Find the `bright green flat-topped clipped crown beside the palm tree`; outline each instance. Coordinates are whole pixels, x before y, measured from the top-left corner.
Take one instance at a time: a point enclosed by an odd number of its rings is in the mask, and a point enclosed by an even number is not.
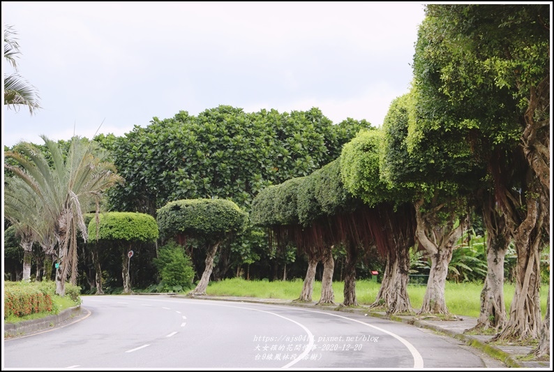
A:
[[[90,218],[90,216],[89,216]],[[155,241],[158,225],[154,217],[133,212],[107,212],[91,218],[89,237],[99,240]],[[97,228],[98,227],[98,228]]]

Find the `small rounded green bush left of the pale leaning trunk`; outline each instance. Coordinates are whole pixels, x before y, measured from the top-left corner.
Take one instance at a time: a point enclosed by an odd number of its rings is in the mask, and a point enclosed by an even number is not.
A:
[[[184,248],[175,241],[171,240],[159,249],[158,258],[154,258],[154,265],[158,268],[161,279],[161,290],[158,292],[179,292],[193,287],[193,263]],[[181,289],[175,290],[175,287]]]

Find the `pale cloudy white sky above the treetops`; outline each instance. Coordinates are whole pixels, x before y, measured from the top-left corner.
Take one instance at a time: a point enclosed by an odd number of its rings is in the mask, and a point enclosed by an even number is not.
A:
[[[121,136],[179,111],[318,107],[380,126],[409,90],[417,2],[2,1],[40,110],[2,113],[2,144]],[[2,29],[2,31],[3,31]],[[3,60],[4,75],[14,72]]]

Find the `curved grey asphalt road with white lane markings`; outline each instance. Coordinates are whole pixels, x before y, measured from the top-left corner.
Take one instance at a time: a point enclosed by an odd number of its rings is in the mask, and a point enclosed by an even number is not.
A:
[[[403,323],[292,306],[166,296],[82,297],[90,315],[6,340],[25,369],[483,368],[463,343]]]

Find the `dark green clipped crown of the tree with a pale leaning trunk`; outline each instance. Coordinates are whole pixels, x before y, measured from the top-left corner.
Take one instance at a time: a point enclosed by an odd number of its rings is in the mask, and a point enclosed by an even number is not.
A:
[[[220,241],[248,226],[248,214],[225,199],[193,199],[169,202],[158,209],[158,226],[168,238],[186,236]]]

